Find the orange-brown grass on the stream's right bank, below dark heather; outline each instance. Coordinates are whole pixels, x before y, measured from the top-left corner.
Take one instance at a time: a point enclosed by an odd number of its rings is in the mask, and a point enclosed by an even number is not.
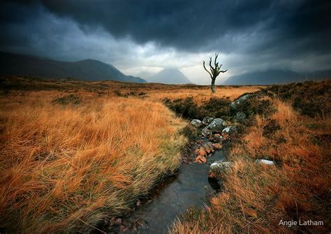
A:
[[[297,115],[288,103],[274,101],[281,130],[263,136],[269,120],[257,125],[244,143],[231,149],[232,170],[224,192],[207,211],[177,221],[172,233],[325,233],[330,231],[330,117]],[[307,127],[309,126],[309,127]],[[316,142],[316,138],[325,139]],[[283,139],[279,142],[279,139]],[[318,138],[319,139],[319,138]],[[259,166],[256,158],[275,159],[279,166]],[[279,221],[323,221],[323,226],[281,226]]]

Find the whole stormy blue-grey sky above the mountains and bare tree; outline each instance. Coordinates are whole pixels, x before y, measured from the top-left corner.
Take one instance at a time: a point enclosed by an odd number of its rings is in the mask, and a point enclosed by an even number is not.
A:
[[[1,1],[0,50],[61,61],[96,59],[126,75],[178,68],[209,84],[266,69],[331,68],[331,1]]]

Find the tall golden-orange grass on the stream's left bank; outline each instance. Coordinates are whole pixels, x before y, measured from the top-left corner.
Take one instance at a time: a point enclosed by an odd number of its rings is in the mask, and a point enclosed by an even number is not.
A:
[[[119,214],[179,166],[185,125],[161,103],[57,93],[1,98],[1,227],[17,233],[87,231]],[[86,225],[89,224],[89,225]]]

